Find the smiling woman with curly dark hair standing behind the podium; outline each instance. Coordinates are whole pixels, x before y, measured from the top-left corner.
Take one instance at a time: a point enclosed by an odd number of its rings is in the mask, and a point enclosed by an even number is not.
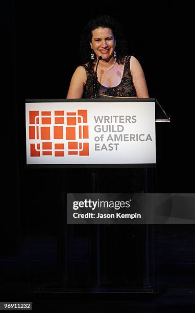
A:
[[[67,99],[93,98],[96,66],[97,98],[101,94],[149,98],[141,65],[127,55],[126,39],[112,17],[103,15],[89,21],[81,36],[80,54],[83,65],[72,76]]]

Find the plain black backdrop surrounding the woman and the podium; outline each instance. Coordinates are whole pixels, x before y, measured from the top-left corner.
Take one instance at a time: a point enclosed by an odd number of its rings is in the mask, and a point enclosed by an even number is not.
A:
[[[71,76],[80,65],[79,35],[90,17],[110,14],[121,22],[130,54],[144,70],[150,97],[158,99],[171,119],[170,123],[156,125],[157,167],[150,172],[154,192],[194,192],[194,109],[185,86],[182,9],[179,12],[170,1],[98,5],[1,2],[0,262],[5,297],[13,297],[16,290],[23,292],[33,284],[56,282],[61,192],[88,192],[91,188],[89,170],[27,169],[25,164],[25,99],[66,98]],[[118,173],[123,177],[123,170]],[[120,184],[109,182],[110,170],[102,170],[102,174],[108,176],[108,184],[104,182],[101,192],[124,192]],[[192,290],[189,295],[193,295],[194,226],[156,226],[155,231],[160,284],[185,290],[186,295]],[[176,306],[185,292],[175,301]],[[189,306],[193,306],[192,298]]]

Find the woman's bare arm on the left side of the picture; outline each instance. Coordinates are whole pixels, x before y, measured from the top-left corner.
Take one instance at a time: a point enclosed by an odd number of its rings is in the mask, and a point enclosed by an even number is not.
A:
[[[83,66],[78,66],[73,74],[67,94],[67,99],[81,99],[83,96],[84,85],[86,84],[87,75]]]

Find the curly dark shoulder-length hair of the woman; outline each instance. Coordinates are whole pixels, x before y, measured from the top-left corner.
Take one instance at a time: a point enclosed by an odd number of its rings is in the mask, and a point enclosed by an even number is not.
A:
[[[118,21],[109,15],[97,16],[87,23],[80,37],[79,53],[81,61],[83,64],[88,63],[91,72],[93,72],[96,56],[94,55],[94,60],[91,60],[91,47],[89,42],[91,42],[92,39],[92,31],[99,27],[110,28],[112,30],[114,38],[117,40],[116,62],[118,64],[124,64],[125,56],[128,54],[127,40]]]

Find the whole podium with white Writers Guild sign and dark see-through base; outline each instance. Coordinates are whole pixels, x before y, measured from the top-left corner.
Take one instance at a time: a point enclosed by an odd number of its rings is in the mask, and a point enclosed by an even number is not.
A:
[[[61,169],[58,288],[158,293],[153,226],[68,225],[66,195],[151,192],[155,122],[170,121],[163,108],[155,98],[28,99],[26,108],[27,166]]]

